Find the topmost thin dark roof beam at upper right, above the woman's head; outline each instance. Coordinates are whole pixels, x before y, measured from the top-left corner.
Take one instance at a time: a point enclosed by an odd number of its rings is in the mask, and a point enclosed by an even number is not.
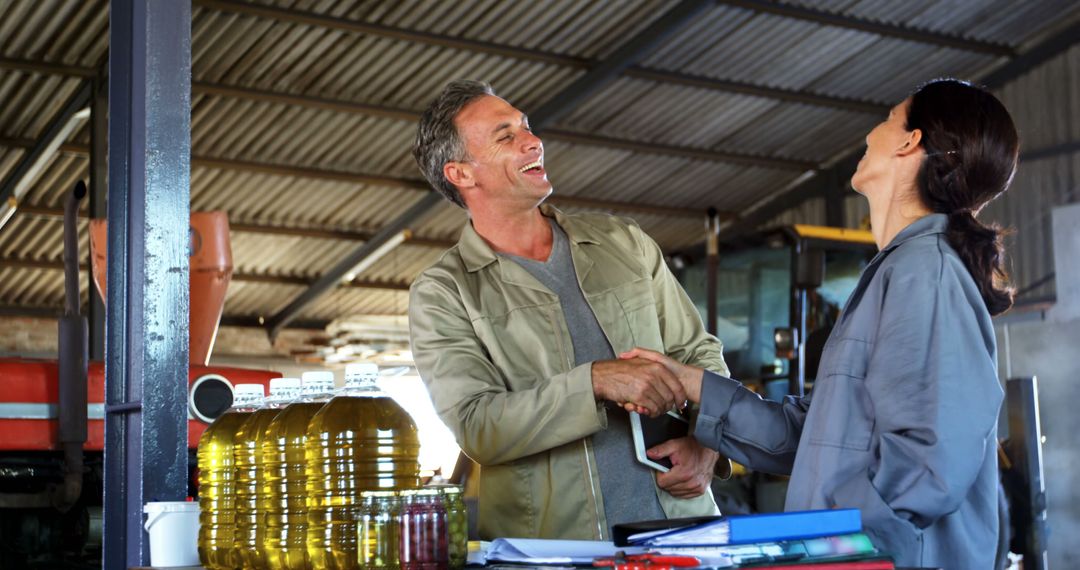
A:
[[[814,24],[834,26],[837,28],[847,28],[859,31],[865,31],[869,33],[876,33],[878,36],[883,36],[887,38],[897,38],[901,40],[908,40],[919,43],[930,43],[934,45],[941,45],[944,48],[953,48],[956,50],[963,50],[967,52],[983,53],[998,57],[1013,57],[1016,55],[1016,50],[1010,45],[1003,45],[1000,43],[994,43],[982,40],[973,40],[970,38],[954,36],[951,33],[930,31],[926,29],[913,28],[909,26],[901,26],[896,24],[883,24],[880,22],[863,19],[854,16],[848,16],[845,14],[838,14],[835,12],[825,12],[823,10],[814,10],[812,8],[806,8],[796,4],[772,2],[768,0],[720,0],[720,1],[730,6],[742,8],[745,10],[753,10],[754,12],[773,14],[777,16],[801,19],[805,22],[813,22]]]

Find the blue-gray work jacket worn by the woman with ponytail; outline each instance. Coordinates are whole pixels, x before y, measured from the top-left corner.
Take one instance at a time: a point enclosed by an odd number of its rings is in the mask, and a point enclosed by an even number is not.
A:
[[[787,511],[860,508],[897,566],[988,569],[1002,390],[990,315],[947,223],[920,218],[870,261],[810,395],[764,401],[708,372],[696,436],[789,474]]]

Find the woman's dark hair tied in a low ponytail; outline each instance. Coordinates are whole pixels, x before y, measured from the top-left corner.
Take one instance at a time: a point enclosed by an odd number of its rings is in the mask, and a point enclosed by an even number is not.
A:
[[[949,245],[963,260],[991,315],[1012,307],[1002,230],[976,219],[1016,172],[1020,137],[1012,117],[989,92],[955,79],[912,94],[907,130],[922,132],[926,159],[917,184],[923,203],[948,215]]]

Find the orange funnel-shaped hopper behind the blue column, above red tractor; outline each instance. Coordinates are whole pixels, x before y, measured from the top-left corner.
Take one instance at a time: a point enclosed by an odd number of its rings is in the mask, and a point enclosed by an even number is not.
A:
[[[107,223],[90,220],[91,269],[97,293],[105,295],[108,273],[106,250]],[[232,280],[232,248],[229,246],[229,217],[225,212],[191,214],[191,324],[190,362],[206,366],[214,350],[217,325],[225,308],[225,294]]]

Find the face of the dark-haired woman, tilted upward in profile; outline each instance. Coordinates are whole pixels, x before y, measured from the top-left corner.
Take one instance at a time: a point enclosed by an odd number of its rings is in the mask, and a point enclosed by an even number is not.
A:
[[[917,137],[907,131],[907,107],[910,99],[904,99],[889,111],[889,118],[878,123],[866,135],[866,153],[859,161],[855,174],[851,176],[851,187],[867,195],[875,189],[891,187],[895,176],[902,171],[899,161],[912,154],[912,145]]]

